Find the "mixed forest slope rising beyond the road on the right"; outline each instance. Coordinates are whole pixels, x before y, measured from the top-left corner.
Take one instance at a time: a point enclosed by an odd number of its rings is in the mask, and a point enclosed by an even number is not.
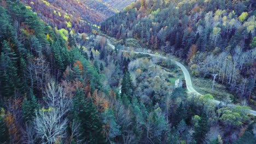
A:
[[[255,1],[137,1],[102,22],[101,30],[125,44],[134,38],[171,53],[197,77],[218,74],[233,101],[256,100]],[[223,99],[229,100],[229,98]]]

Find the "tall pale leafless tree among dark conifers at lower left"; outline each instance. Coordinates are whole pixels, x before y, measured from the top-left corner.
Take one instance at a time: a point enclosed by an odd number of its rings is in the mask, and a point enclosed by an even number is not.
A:
[[[44,97],[47,109],[36,113],[34,127],[38,137],[42,138],[42,143],[52,144],[56,139],[65,136],[68,123],[65,114],[69,110],[71,100],[62,90],[54,81],[48,83]]]

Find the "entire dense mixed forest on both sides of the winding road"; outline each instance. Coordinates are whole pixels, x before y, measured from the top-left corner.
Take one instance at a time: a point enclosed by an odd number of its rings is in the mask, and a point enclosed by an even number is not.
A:
[[[53,24],[65,22],[64,11],[53,23],[39,13],[69,1],[1,0],[0,143],[256,143],[250,107],[215,105],[214,95],[175,87],[182,72],[171,57],[123,51],[172,53],[194,76],[218,71],[236,99],[253,101],[255,6],[233,2],[137,1],[103,21],[102,34]]]

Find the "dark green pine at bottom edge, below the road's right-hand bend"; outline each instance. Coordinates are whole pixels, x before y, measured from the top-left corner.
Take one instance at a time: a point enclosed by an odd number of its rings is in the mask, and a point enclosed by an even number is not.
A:
[[[202,113],[199,124],[195,127],[195,133],[193,134],[196,143],[203,143],[209,130],[208,118],[205,113]]]

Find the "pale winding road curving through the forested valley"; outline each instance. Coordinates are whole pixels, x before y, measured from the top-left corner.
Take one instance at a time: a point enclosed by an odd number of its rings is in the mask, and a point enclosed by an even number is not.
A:
[[[113,50],[115,49],[115,46],[112,45],[109,41],[107,41],[107,44],[108,46],[110,46]],[[125,51],[125,50],[121,50],[121,51],[124,51],[124,52],[130,52],[130,51]],[[133,53],[139,53],[139,54],[144,54],[144,55],[149,55],[149,56],[152,56],[152,57],[158,57],[158,58],[163,58],[163,59],[166,59],[167,57],[164,57],[164,56],[160,56],[160,55],[156,55],[156,54],[153,54],[153,53],[147,53],[147,52],[135,52],[133,51]],[[189,74],[189,71],[187,70],[187,68],[184,67],[183,64],[177,62],[177,61],[174,61],[172,59],[172,61],[178,65],[179,68],[182,69],[183,71],[183,74],[184,74],[184,77],[185,77],[185,81],[186,81],[186,85],[187,85],[187,89],[188,89],[188,93],[190,94],[195,94],[197,96],[201,96],[202,94],[200,94],[199,92],[197,92],[194,88],[193,88],[193,85],[192,85],[192,82],[191,82],[191,77],[190,77],[190,74]],[[216,105],[219,105],[221,103],[221,101],[218,101],[218,100],[212,100],[212,102]],[[224,104],[224,102],[222,102]],[[230,107],[235,107],[234,104],[227,104],[227,106],[230,106]],[[253,110],[249,110],[249,113],[251,113],[251,115],[254,115],[256,116],[256,111],[253,111]]]

